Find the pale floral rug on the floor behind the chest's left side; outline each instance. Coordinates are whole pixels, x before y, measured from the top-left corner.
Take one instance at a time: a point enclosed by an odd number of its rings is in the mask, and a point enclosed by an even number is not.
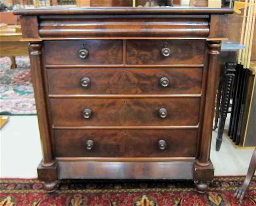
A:
[[[17,69],[10,69],[10,58],[0,58],[0,114],[34,115],[29,57],[16,57],[16,63]]]

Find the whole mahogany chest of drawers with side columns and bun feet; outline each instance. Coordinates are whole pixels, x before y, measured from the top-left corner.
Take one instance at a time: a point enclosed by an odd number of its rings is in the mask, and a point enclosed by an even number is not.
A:
[[[151,7],[18,10],[30,42],[38,178],[213,180],[225,14]]]

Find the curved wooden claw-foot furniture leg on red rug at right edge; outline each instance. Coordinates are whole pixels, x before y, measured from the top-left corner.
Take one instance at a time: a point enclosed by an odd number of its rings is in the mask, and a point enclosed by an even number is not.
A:
[[[234,196],[237,197],[237,199],[239,199],[239,200],[244,199],[244,193],[245,193],[247,187],[249,186],[252,177],[254,176],[255,170],[256,170],[256,148],[254,149],[254,152],[252,154],[251,162],[250,162],[244,183],[241,187],[239,187],[237,189],[236,193],[234,194]]]

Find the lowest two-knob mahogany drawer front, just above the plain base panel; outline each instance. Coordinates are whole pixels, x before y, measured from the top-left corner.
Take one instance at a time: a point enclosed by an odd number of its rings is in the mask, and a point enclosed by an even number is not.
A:
[[[194,157],[197,131],[54,130],[54,139],[57,157]]]

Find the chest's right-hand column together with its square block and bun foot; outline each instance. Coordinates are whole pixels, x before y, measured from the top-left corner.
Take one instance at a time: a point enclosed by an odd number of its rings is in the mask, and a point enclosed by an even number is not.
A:
[[[211,137],[213,128],[213,115],[216,95],[216,81],[219,74],[220,41],[208,42],[208,67],[206,67],[206,88],[204,97],[203,121],[201,124],[201,137],[198,156],[194,164],[194,182],[199,193],[205,193],[209,182],[213,180],[214,168],[210,161]],[[207,62],[207,61],[206,61]]]

